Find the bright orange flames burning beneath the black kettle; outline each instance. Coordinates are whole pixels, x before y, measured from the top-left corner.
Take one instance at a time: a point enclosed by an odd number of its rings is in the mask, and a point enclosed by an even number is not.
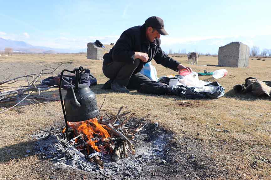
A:
[[[83,135],[85,135],[85,137],[88,138],[87,143],[97,152],[101,152],[101,151],[98,149],[98,146],[95,145],[95,142],[92,141],[92,138],[94,138],[93,134],[98,134],[103,139],[110,137],[107,130],[104,129],[104,127],[101,124],[98,123],[97,118],[89,119],[84,122],[82,121],[75,122],[75,123],[68,122],[68,125],[74,129],[75,136],[77,136],[79,133],[82,133]],[[89,149],[87,150],[89,154]]]

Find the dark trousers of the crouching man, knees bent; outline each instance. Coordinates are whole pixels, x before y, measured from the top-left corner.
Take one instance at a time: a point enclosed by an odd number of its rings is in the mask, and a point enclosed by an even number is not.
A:
[[[128,89],[137,89],[140,84],[151,81],[141,73],[134,73],[140,62],[140,59],[135,59],[134,63],[113,61],[106,64],[104,62],[103,73],[107,78],[114,80],[114,83],[126,86]]]

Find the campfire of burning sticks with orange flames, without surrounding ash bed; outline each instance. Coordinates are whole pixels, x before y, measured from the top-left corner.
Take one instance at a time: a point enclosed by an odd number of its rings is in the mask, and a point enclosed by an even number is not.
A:
[[[101,117],[100,120],[93,118],[81,122],[68,122],[68,129],[64,128],[62,131],[64,138],[59,141],[66,148],[73,150],[82,158],[97,163],[101,168],[103,162],[99,157],[103,154],[112,155],[112,161],[127,158],[128,154],[134,155],[135,146],[132,142],[137,142],[134,139],[135,135],[144,128],[144,124],[138,124],[135,129],[126,127],[125,124],[135,113],[120,114],[122,108],[117,115],[108,120]],[[130,115],[126,118],[128,114]],[[66,141],[66,131],[69,141]]]

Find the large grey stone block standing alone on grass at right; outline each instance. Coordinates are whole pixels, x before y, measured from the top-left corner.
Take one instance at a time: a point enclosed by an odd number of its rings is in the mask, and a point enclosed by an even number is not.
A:
[[[249,47],[242,42],[231,42],[219,47],[218,65],[224,67],[248,67]]]

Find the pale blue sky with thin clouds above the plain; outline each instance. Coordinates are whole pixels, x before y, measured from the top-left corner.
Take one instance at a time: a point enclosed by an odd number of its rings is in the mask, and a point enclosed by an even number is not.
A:
[[[218,47],[241,41],[271,49],[271,1],[3,1],[0,37],[31,45],[83,49],[96,39],[116,42],[129,27],[156,15],[171,48],[216,53]]]

